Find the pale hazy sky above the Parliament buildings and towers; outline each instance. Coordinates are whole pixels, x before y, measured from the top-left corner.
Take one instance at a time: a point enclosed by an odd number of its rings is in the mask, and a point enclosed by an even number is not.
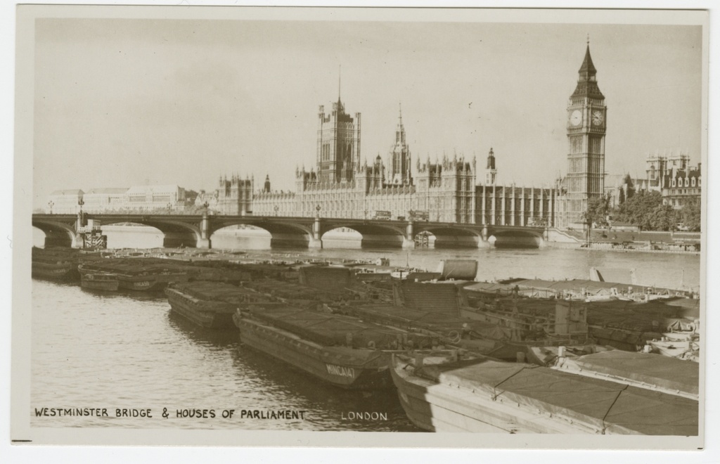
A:
[[[413,155],[495,150],[500,183],[565,173],[567,99],[586,36],[608,105],[606,171],[701,150],[701,28],[613,24],[40,19],[34,206],[58,188],[270,174],[315,163],[317,112],[362,114],[361,156],[385,159],[398,104]]]

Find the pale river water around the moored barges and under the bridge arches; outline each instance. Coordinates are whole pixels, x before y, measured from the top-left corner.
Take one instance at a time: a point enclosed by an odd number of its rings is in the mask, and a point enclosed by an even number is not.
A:
[[[157,246],[153,233],[109,233],[108,242]],[[264,237],[213,240],[214,247],[247,250],[247,258],[258,259],[389,258],[391,265],[434,269],[442,259],[474,258],[480,281],[588,278],[595,267],[634,268],[639,284],[697,289],[700,283],[700,256],[692,254],[333,247],[341,243],[328,240],[323,250],[269,250]],[[33,427],[418,430],[395,391],[323,386],[243,347],[235,331],[201,329],[176,317],[162,293],[101,294],[33,280],[31,385]]]

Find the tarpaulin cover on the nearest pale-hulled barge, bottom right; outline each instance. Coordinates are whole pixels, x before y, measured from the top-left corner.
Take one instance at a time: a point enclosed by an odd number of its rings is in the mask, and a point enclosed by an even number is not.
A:
[[[598,432],[698,435],[698,401],[625,383],[494,360],[464,367],[429,365],[416,373],[495,401],[566,417]]]

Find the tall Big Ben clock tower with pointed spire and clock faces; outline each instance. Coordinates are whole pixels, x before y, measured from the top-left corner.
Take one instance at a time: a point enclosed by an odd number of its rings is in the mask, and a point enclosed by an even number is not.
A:
[[[566,222],[580,224],[588,200],[605,193],[607,106],[595,78],[590,41],[580,66],[577,87],[567,105]]]

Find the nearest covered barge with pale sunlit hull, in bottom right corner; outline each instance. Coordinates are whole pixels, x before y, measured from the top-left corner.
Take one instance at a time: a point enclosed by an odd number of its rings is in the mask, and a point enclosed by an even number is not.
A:
[[[457,352],[392,355],[413,424],[433,432],[698,435],[698,401]]]

